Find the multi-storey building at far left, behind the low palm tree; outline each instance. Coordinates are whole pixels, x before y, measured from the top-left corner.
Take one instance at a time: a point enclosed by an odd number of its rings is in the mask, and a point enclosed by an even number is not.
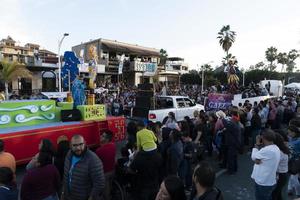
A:
[[[32,79],[20,78],[9,85],[10,91],[20,95],[32,92],[55,91],[58,67],[57,55],[51,51],[40,49],[38,44],[27,43],[19,46],[10,36],[0,41],[0,60],[16,61],[24,64],[33,74]]]

